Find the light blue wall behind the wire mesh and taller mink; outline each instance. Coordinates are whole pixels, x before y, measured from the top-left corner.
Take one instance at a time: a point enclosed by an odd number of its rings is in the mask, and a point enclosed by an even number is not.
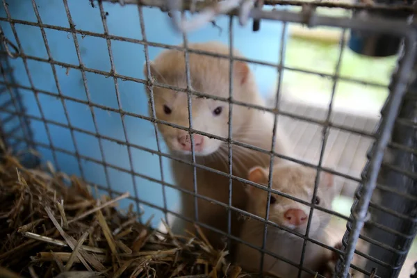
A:
[[[104,28],[101,23],[99,8],[92,8],[88,0],[68,0],[69,8],[72,14],[76,28],[84,31],[103,33]],[[65,8],[62,1],[56,0],[36,0],[40,16],[44,24],[56,26],[70,27],[65,14]],[[8,1],[8,9],[11,17],[14,19],[22,19],[29,22],[37,22],[31,0]],[[118,6],[112,3],[104,3],[104,10],[108,12],[108,29],[112,35],[119,35],[129,38],[142,39],[140,35],[138,9],[135,6]],[[179,44],[182,42],[181,35],[172,31],[169,17],[156,8],[144,8],[145,26],[147,39],[151,42],[160,42],[165,44]],[[6,17],[3,7],[0,9],[0,16]],[[8,22],[1,21],[1,27],[6,37],[15,43],[15,38]],[[229,25],[228,17],[220,17],[216,23],[222,28],[208,24],[199,31],[190,33],[188,38],[190,42],[204,42],[208,40],[220,40],[228,43]],[[15,24],[17,35],[22,42],[24,53],[28,56],[38,56],[40,58],[48,58],[47,51],[44,47],[40,28],[35,26],[27,26],[24,24]],[[245,27],[238,25],[237,19],[234,24],[234,45],[248,58],[263,60],[270,63],[278,63],[279,43],[281,38],[281,24],[277,22],[261,22],[261,31],[252,32],[252,21]],[[54,60],[72,65],[79,65],[76,57],[74,41],[72,34],[63,31],[56,31],[45,28],[49,47]],[[109,72],[111,70],[110,60],[108,58],[108,49],[106,40],[90,36],[77,35],[81,56],[86,67],[92,69]],[[115,67],[117,73],[132,76],[140,79],[145,77],[142,74],[142,65],[145,63],[144,49],[141,44],[133,44],[130,42],[112,42],[113,55],[115,58]],[[149,55],[154,58],[162,49],[149,47]],[[21,58],[10,59],[11,65],[14,67],[14,77],[17,83],[30,86],[26,70]],[[51,66],[48,63],[42,63],[35,60],[28,60],[28,67],[31,72],[35,88],[46,90],[58,94]],[[252,69],[256,74],[259,88],[263,95],[275,85],[277,72],[272,67],[263,67],[260,65],[252,65]],[[56,66],[58,81],[63,95],[74,97],[87,101],[81,72],[79,70],[67,69]],[[115,87],[113,78],[106,78],[98,74],[86,73],[88,79],[88,88],[90,90],[92,101],[117,108],[117,99],[115,95]],[[3,81],[3,77],[1,77]],[[144,93],[143,85],[131,81],[118,81],[120,86],[120,94],[122,108],[125,111],[147,115],[147,98]],[[27,113],[35,117],[40,117],[40,111],[35,101],[32,91],[19,90],[22,94],[24,106]],[[63,105],[58,97],[39,94],[40,105],[44,111],[47,120],[54,120],[62,124],[67,124],[67,119],[63,110]],[[4,99],[0,99],[4,101]],[[76,101],[65,100],[65,104],[70,115],[70,121],[73,126],[86,131],[95,132],[92,122],[90,109],[85,104],[79,104]],[[97,117],[97,125],[99,133],[105,136],[115,138],[117,140],[126,140],[122,130],[122,120],[120,115],[108,111],[94,108]],[[1,118],[7,117],[6,111],[0,111]],[[156,141],[154,129],[150,122],[140,120],[135,117],[126,116],[125,124],[127,136],[133,144],[142,145],[149,149],[156,150]],[[69,152],[74,152],[74,143],[70,135],[70,130],[57,126],[56,124],[48,124],[51,132],[52,144]],[[4,127],[7,129],[7,126]],[[44,124],[38,120],[31,120],[31,128],[34,133],[34,140],[49,145],[47,132]],[[94,136],[75,131],[79,152],[83,156],[87,156],[101,161],[99,151],[99,141]],[[117,145],[115,142],[102,140],[104,145],[104,156],[106,162],[117,165],[126,170],[130,170],[129,158],[126,146]],[[162,146],[163,152],[166,152],[165,145]],[[38,151],[44,156],[44,159],[53,161],[51,150],[45,147],[38,147]],[[161,173],[158,163],[158,156],[132,149],[133,154],[133,170],[140,174],[145,174],[154,179],[161,179]],[[56,152],[59,170],[67,172],[67,174],[80,175],[79,167],[75,156]],[[85,179],[106,186],[106,176],[103,165],[81,160]],[[167,161],[164,159],[164,178],[165,181],[172,183],[170,170]],[[111,187],[119,192],[129,191],[133,195],[133,182],[131,176],[124,172],[117,171],[112,167],[108,167],[108,175]],[[156,206],[163,206],[162,189],[158,183],[153,183],[146,179],[136,177],[138,185],[138,193],[140,199]],[[175,190],[166,188],[167,190],[167,207],[174,209],[177,201],[177,193]],[[129,200],[122,202],[121,206],[126,207]],[[163,213],[155,208],[143,206],[145,209],[144,218],[149,218],[155,214],[154,224],[158,223]]]

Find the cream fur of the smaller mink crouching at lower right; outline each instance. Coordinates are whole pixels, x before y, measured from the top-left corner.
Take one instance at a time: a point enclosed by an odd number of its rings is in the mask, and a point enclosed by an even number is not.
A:
[[[311,202],[313,197],[313,188],[316,179],[316,170],[313,170],[295,163],[283,163],[275,165],[272,172],[272,188],[279,190],[306,202]],[[261,184],[268,184],[268,170],[263,170],[263,179],[259,180]],[[330,174],[322,173],[318,186],[317,195],[320,197],[319,205],[324,208],[331,208],[332,201],[335,197],[333,177]],[[268,193],[259,188],[250,187],[247,189],[249,196],[248,211],[261,218],[265,218],[265,208]],[[306,233],[306,224],[300,228],[285,221],[284,213],[290,208],[299,208],[309,215],[309,206],[300,204],[294,200],[272,194],[276,198],[275,204],[270,205],[269,220],[280,224],[288,229],[293,229],[300,234]],[[313,211],[309,237],[314,238],[321,243],[327,243],[325,228],[329,224],[331,215],[315,209]],[[242,240],[252,243],[259,248],[262,247],[264,224],[258,220],[250,219],[243,224],[241,234]],[[283,256],[289,261],[300,263],[302,246],[304,239],[288,233],[277,227],[268,227],[268,234],[265,248],[279,256]],[[331,253],[329,250],[320,247],[314,243],[308,242],[304,257],[304,268],[319,271],[329,260]],[[247,270],[259,271],[261,263],[261,253],[244,244],[239,244],[236,252],[236,262],[247,268]],[[278,275],[283,278],[297,277],[298,269],[284,261],[275,259],[272,256],[265,255],[263,261],[263,271]],[[307,272],[302,272],[302,277],[312,277]]]

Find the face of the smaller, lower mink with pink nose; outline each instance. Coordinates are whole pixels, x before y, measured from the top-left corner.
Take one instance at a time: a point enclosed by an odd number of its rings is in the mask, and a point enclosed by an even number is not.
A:
[[[316,170],[302,165],[277,165],[272,170],[272,188],[311,202],[313,199],[314,183],[316,180]],[[268,171],[261,167],[255,167],[250,171],[249,178],[256,183],[268,185]],[[268,193],[259,188],[250,187],[249,202],[252,213],[265,217],[266,202]],[[334,181],[331,174],[322,172],[314,204],[322,208],[332,208],[334,199]],[[287,197],[271,194],[269,219],[281,226],[293,229],[301,234],[305,234],[309,222],[310,207],[301,204]],[[311,218],[309,234],[316,235],[324,229],[331,215],[318,209],[314,209]]]

